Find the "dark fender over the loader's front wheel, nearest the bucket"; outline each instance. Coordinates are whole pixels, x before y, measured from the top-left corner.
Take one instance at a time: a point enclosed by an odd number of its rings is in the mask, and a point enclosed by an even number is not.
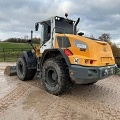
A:
[[[21,57],[24,57],[27,63],[28,69],[37,69],[37,59],[35,53],[31,51],[23,51]]]

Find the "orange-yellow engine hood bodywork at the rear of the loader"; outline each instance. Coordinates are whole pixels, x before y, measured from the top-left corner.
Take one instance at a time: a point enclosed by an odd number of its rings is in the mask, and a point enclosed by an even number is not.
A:
[[[57,34],[57,36],[64,35]],[[106,63],[109,63],[109,65],[115,64],[112,50],[108,43],[91,40],[79,35],[66,34],[65,36],[68,37],[71,43],[71,47],[67,48],[73,53],[72,56],[69,56],[71,64],[79,64],[83,66],[106,66]],[[80,45],[81,43],[85,43],[87,45],[87,49],[85,51],[81,51],[78,47],[79,45],[77,46],[75,43],[76,40],[80,42]],[[58,48],[57,37],[55,41],[55,48]],[[75,62],[75,60],[78,61],[78,63]]]

